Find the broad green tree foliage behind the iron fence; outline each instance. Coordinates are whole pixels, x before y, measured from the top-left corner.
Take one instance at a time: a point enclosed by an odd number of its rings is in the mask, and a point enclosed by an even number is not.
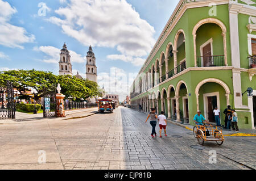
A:
[[[0,85],[5,85],[6,81],[12,82],[21,96],[26,96],[26,91],[31,88],[36,90],[38,92],[35,94],[36,101],[44,94],[55,92],[57,83],[60,83],[61,93],[66,96],[66,99],[69,96],[74,100],[86,99],[100,94],[96,82],[78,79],[71,75],[54,75],[49,71],[34,69],[0,71]]]

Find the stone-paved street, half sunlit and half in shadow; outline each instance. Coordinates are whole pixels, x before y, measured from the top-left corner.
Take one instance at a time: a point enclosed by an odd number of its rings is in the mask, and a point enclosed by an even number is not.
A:
[[[0,125],[0,169],[255,169],[256,138],[197,144],[192,131],[168,123],[151,138],[147,115],[129,108],[73,120]],[[156,127],[159,131],[159,127]],[[46,163],[39,164],[39,150]],[[209,150],[217,163],[209,163]]]

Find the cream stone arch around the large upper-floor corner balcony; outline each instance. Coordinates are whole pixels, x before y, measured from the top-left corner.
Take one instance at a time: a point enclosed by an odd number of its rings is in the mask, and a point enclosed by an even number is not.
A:
[[[207,18],[207,19],[202,19],[193,28],[192,35],[194,39],[194,56],[195,56],[195,66],[197,66],[197,61],[196,61],[196,32],[200,26],[206,23],[214,23],[217,24],[221,30],[222,30],[222,36],[223,36],[223,44],[224,44],[224,59],[225,59],[225,65],[228,65],[228,60],[227,60],[227,54],[226,54],[226,26],[224,23],[221,22],[221,20],[218,20],[216,18]]]

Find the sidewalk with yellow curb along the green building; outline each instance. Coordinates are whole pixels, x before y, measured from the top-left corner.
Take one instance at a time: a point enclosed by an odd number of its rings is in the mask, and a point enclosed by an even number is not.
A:
[[[136,110],[138,111],[138,110]],[[148,114],[147,112],[141,111],[145,114]],[[193,131],[194,126],[193,125],[189,125],[188,123],[183,123],[182,121],[177,121],[177,120],[170,120],[167,119],[167,121],[169,123],[178,125],[180,127],[186,128],[190,131]],[[233,132],[233,131],[228,131],[227,129],[222,129],[222,133],[224,134],[224,136],[256,136],[256,129],[240,129],[239,132]]]

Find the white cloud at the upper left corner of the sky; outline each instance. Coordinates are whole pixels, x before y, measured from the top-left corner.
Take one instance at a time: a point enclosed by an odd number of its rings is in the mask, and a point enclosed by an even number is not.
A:
[[[18,12],[15,7],[11,7],[8,2],[0,0],[0,45],[11,48],[24,48],[20,44],[32,43],[34,35],[28,35],[22,27],[14,26],[9,22],[11,16]]]

